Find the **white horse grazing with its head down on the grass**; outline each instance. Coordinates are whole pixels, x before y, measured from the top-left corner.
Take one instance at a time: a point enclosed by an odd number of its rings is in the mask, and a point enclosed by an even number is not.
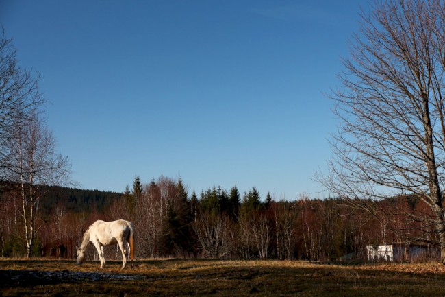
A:
[[[123,264],[122,269],[127,264],[126,246],[129,246],[131,257],[131,268],[133,268],[134,259],[134,228],[133,223],[119,219],[113,222],[96,221],[84,234],[82,244],[77,249],[77,265],[84,262],[84,252],[90,241],[94,244],[101,260],[101,268],[105,265],[105,257],[103,257],[103,246],[111,246],[118,244],[122,252]]]

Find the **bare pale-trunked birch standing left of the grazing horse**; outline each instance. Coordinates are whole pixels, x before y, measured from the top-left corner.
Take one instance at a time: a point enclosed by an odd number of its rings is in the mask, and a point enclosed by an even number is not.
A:
[[[55,152],[53,134],[42,126],[37,116],[14,126],[7,152],[8,176],[19,187],[27,257],[31,257],[38,204],[44,194],[40,187],[66,183],[71,164],[66,156]]]

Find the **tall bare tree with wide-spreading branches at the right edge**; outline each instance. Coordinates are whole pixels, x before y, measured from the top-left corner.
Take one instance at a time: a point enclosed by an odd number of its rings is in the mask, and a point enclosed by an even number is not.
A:
[[[355,198],[418,196],[431,207],[445,264],[445,3],[378,1],[361,20],[332,95],[342,126],[320,180],[371,212]]]

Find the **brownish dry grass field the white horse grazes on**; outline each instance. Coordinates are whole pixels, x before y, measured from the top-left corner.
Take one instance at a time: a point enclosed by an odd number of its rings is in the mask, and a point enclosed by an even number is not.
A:
[[[0,296],[445,296],[437,263],[0,260]]]

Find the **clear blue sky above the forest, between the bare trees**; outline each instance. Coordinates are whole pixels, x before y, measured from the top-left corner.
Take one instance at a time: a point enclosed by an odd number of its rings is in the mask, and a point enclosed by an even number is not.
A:
[[[324,93],[368,1],[0,0],[18,60],[42,75],[47,126],[85,189],[137,174],[189,193],[236,185],[326,197],[337,121]]]

